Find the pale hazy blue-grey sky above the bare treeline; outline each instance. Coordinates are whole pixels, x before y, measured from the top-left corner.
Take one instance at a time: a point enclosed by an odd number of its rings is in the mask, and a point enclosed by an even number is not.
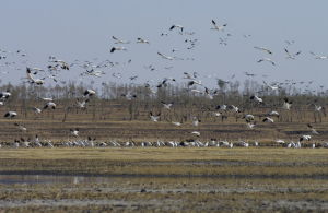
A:
[[[26,64],[17,64],[22,70],[0,67],[2,83],[16,82],[25,76],[24,68],[47,64],[48,56],[73,62],[74,59],[98,61],[132,62],[103,69],[107,74],[96,82],[129,82],[128,78],[140,75],[137,82],[164,76],[183,78],[183,72],[199,72],[203,82],[214,85],[215,79],[203,75],[215,74],[229,80],[232,74],[244,80],[244,72],[268,74],[267,81],[314,80],[316,85],[328,87],[328,60],[316,60],[309,51],[328,55],[328,1],[326,0],[1,0],[0,7],[0,49],[27,52]],[[219,24],[227,23],[225,32],[211,31],[211,20]],[[192,36],[168,32],[172,24],[181,24]],[[227,45],[220,45],[220,37],[232,36]],[[245,38],[244,34],[251,36]],[[112,36],[131,40],[125,45],[128,51],[110,54],[114,45]],[[150,45],[136,44],[137,37],[147,38]],[[185,38],[197,38],[195,49],[187,50]],[[285,40],[295,40],[288,46]],[[254,49],[265,46],[272,56]],[[302,50],[296,60],[285,59],[283,48],[292,52]],[[173,48],[179,51],[171,52]],[[167,61],[157,51],[190,60]],[[270,57],[277,66],[257,63],[262,57]],[[19,60],[8,56],[8,61]],[[0,60],[3,64],[4,60]],[[156,71],[143,67],[153,64]],[[173,66],[171,70],[164,67]],[[60,79],[74,79],[81,68],[73,68]],[[122,73],[117,80],[112,73]],[[259,78],[261,79],[261,78]],[[90,81],[87,78],[85,81]]]

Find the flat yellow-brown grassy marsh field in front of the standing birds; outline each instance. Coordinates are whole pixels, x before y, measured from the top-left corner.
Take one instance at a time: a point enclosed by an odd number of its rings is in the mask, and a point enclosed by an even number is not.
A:
[[[3,212],[328,211],[326,149],[2,149],[2,175],[84,182],[0,185]],[[107,177],[97,182],[92,177]]]

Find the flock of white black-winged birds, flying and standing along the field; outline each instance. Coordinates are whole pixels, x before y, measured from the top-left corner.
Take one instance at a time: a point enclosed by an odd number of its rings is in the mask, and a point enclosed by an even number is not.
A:
[[[167,29],[167,31],[166,31]],[[172,35],[177,35],[180,36],[180,40],[183,44],[185,44],[184,48],[177,48],[173,47],[171,52],[165,52],[163,50],[156,50],[154,55],[157,55],[161,61],[161,63],[164,63],[165,66],[161,68],[161,70],[174,70],[175,67],[175,61],[194,61],[197,60],[192,57],[183,57],[179,56],[179,52],[181,51],[194,51],[200,46],[200,38],[197,38],[197,32],[194,31],[188,31],[188,27],[183,26],[181,24],[172,24],[171,26],[168,25],[167,28],[164,29],[164,32],[160,33],[160,37],[168,37]],[[209,31],[213,31],[212,33],[216,33],[219,35],[218,43],[220,45],[226,46],[230,43],[230,38],[233,36],[232,33],[227,33],[229,31],[229,24],[227,23],[221,23],[219,24],[218,21],[211,20],[209,21]],[[245,39],[251,37],[251,35],[243,35]],[[108,55],[117,55],[120,54],[124,56],[126,52],[129,52],[129,46],[131,46],[133,43],[130,40],[126,40],[122,38],[119,38],[118,36],[112,36],[110,37],[113,42],[113,46],[108,48]],[[289,47],[294,45],[294,40],[285,40],[285,44],[288,47],[282,47],[281,52],[285,55],[286,60],[297,60],[298,57],[304,54],[302,50],[297,51],[292,51],[290,50]],[[134,40],[134,44],[138,45],[145,45],[145,46],[152,46],[154,43],[151,40],[138,36]],[[169,44],[167,44],[169,45]],[[131,47],[132,48],[132,47]],[[259,58],[255,59],[257,63],[268,63],[268,66],[273,66],[277,67],[279,64],[278,61],[273,60],[271,57],[276,54],[273,52],[270,48],[260,46],[260,45],[254,45],[254,51],[256,54],[259,54]],[[325,55],[318,55],[315,54],[314,51],[308,51],[309,55],[316,59],[316,60],[326,60],[328,59],[328,56]],[[1,68],[5,69],[13,69],[15,66],[17,66],[17,62],[15,61],[10,61],[9,59],[13,57],[13,55],[16,55],[16,57],[20,57],[21,59],[21,64],[25,64],[25,78],[22,79],[24,83],[27,83],[34,87],[42,87],[42,86],[47,86],[47,84],[51,85],[52,83],[55,84],[62,84],[65,85],[67,83],[67,80],[60,79],[60,75],[66,75],[66,72],[71,71],[72,69],[77,68],[77,70],[82,70],[79,73],[79,78],[86,79],[86,78],[101,78],[101,79],[106,79],[108,78],[106,69],[117,69],[120,68],[122,69],[125,66],[129,66],[132,63],[132,59],[127,59],[125,62],[115,62],[112,60],[104,60],[104,61],[98,61],[97,59],[95,60],[87,60],[87,61],[82,61],[82,60],[74,60],[71,62],[60,60],[55,56],[49,56],[47,66],[45,68],[33,68],[32,66],[28,66],[28,60],[25,59],[27,57],[27,54],[25,50],[16,50],[16,51],[8,51],[0,49],[0,62],[1,62]],[[4,61],[4,63],[2,63]],[[149,70],[150,72],[155,72],[159,70],[159,67],[156,64],[145,64],[143,66],[145,70]],[[21,68],[16,67],[16,70],[21,71]],[[21,71],[23,72],[23,71]],[[2,74],[8,74],[5,72],[2,72]],[[186,86],[186,90],[188,93],[195,95],[195,96],[203,96],[208,98],[209,100],[213,100],[216,95],[222,93],[220,88],[211,88],[209,85],[206,85],[202,81],[202,75],[199,72],[196,71],[184,71],[181,72],[183,78],[176,79],[172,76],[165,76],[164,79],[161,79],[159,81],[156,80],[151,80],[149,79],[145,83],[143,83],[143,86],[145,88],[149,88],[152,94],[156,94],[159,90],[162,87],[167,87],[169,84],[177,84],[177,83],[183,83]],[[254,78],[257,74],[256,73],[250,73],[250,72],[245,72],[246,78]],[[110,79],[114,79],[114,81],[118,81],[119,79],[124,78],[124,73],[119,71],[115,71],[110,74]],[[128,81],[132,83],[139,78],[139,74],[128,76]],[[215,74],[208,76],[209,79],[214,79],[218,81],[218,84],[221,85],[229,85],[232,80],[235,78],[235,74],[231,76],[230,80],[223,80],[223,79],[218,79],[215,78]],[[86,80],[87,81],[87,80]],[[293,80],[285,80],[284,82],[271,82],[268,83],[267,81],[262,81],[262,87],[266,91],[269,91],[273,94],[279,93],[280,91],[283,91],[285,86],[290,85],[305,85],[303,86],[305,88],[305,92],[314,92],[311,88],[311,85],[313,84],[313,81],[307,81],[307,82],[295,82]],[[320,85],[321,92],[324,86]],[[317,92],[317,91],[316,91]],[[324,93],[324,92],[323,92]],[[90,103],[90,99],[93,96],[96,96],[97,92],[96,88],[86,88],[83,94],[80,95],[75,99],[74,107],[80,108],[80,109],[85,109],[87,108],[87,104]],[[7,90],[4,92],[0,93],[0,106],[7,105],[8,100],[11,98],[12,94],[10,90]],[[121,97],[125,97],[127,100],[132,100],[138,98],[138,94],[133,94],[131,92],[127,92],[121,94]],[[56,110],[57,104],[54,98],[50,97],[37,97],[44,102],[44,106],[34,106],[32,110],[35,114],[42,114],[45,110]],[[263,97],[261,97],[261,91],[257,91],[254,94],[249,95],[247,97],[247,100],[253,104],[254,107],[261,107],[261,106],[270,106],[270,103],[267,102]],[[172,110],[172,108],[175,107],[174,102],[167,102],[167,100],[161,100],[161,104],[163,105],[163,108],[165,110]],[[281,99],[280,106],[276,107],[277,109],[268,111],[263,118],[261,118],[262,123],[267,125],[272,125],[276,122],[276,118],[280,117],[280,111],[290,111],[293,110],[293,105],[294,102],[292,97],[285,96],[283,99]],[[316,113],[323,114],[326,116],[326,110],[325,106],[319,105],[318,103],[313,103],[313,109]],[[256,120],[256,115],[247,114],[241,106],[236,106],[233,104],[222,104],[222,105],[216,105],[213,109],[210,109],[212,113],[213,117],[221,117],[222,119],[226,119],[226,114],[232,113],[234,115],[238,115],[241,118],[245,120],[245,128],[248,129],[256,129],[258,127],[258,123],[255,121]],[[15,119],[19,117],[19,114],[14,110],[9,110],[7,111],[3,117],[5,119]],[[161,113],[155,113],[155,111],[149,111],[149,119],[150,121],[153,122],[162,122],[161,121]],[[201,123],[201,120],[197,118],[197,116],[192,116],[190,118],[191,125],[194,127],[198,127]],[[173,126],[176,128],[179,128],[184,126],[185,123],[180,121],[172,121],[171,122]],[[21,131],[25,132],[28,127],[23,126],[22,123],[14,122],[14,126],[20,129]],[[308,128],[309,133],[308,134],[302,134],[298,138],[298,141],[296,142],[284,142],[283,140],[276,140],[276,144],[282,144],[283,146],[286,147],[301,147],[303,142],[305,141],[311,141],[312,135],[314,134],[320,134],[320,131],[317,131],[314,127],[313,123],[307,123],[306,126]],[[229,141],[216,141],[216,140],[211,140],[208,142],[201,142],[200,138],[202,135],[201,131],[190,131],[190,135],[195,137],[196,139],[194,141],[184,141],[184,142],[177,142],[177,141],[169,141],[169,142],[164,142],[164,141],[156,141],[156,142],[142,142],[140,144],[134,143],[133,141],[129,142],[99,142],[95,141],[95,139],[91,139],[89,137],[87,140],[83,140],[80,138],[79,128],[71,128],[70,134],[73,138],[73,140],[67,141],[67,142],[61,142],[58,144],[52,144],[51,141],[43,141],[38,139],[36,135],[34,140],[25,140],[21,138],[20,140],[15,140],[14,143],[2,143],[2,146],[15,146],[15,147],[30,147],[30,146],[172,146],[172,147],[177,147],[177,146],[225,146],[225,147],[233,147],[233,146],[259,146],[259,142],[246,142],[246,141],[239,141],[239,142],[229,142]],[[306,145],[305,145],[306,146]],[[315,143],[312,143],[312,147],[316,147]],[[328,147],[328,143],[323,143],[319,146]]]

